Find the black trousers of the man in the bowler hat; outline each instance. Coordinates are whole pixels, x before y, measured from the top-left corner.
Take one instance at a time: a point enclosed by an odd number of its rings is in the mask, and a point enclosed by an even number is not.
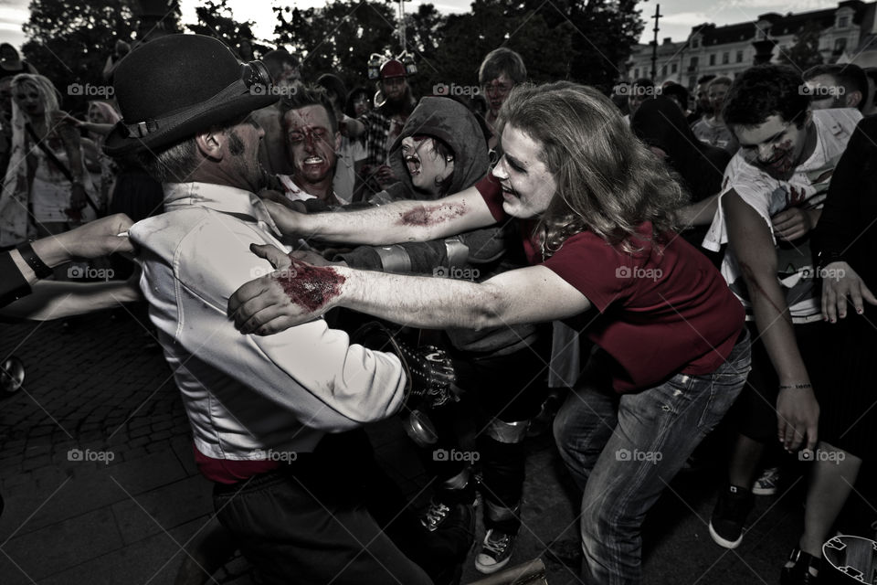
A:
[[[365,432],[328,435],[279,471],[217,484],[214,505],[265,583],[431,585],[372,514],[378,476]],[[404,501],[390,499],[384,492],[376,516],[405,517]]]

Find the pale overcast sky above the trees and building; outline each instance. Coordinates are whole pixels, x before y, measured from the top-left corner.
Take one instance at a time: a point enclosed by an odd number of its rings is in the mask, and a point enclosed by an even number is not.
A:
[[[551,0],[548,0],[550,5]],[[183,21],[195,22],[195,0],[182,0]],[[228,5],[234,10],[234,15],[239,20],[253,20],[257,27],[255,34],[258,37],[270,38],[274,30],[274,13],[270,6],[274,4],[269,0],[229,0]],[[298,0],[291,5],[300,8],[324,5],[324,0]],[[406,2],[406,10],[413,11],[417,5],[423,4],[421,0]],[[439,0],[433,2],[439,11],[444,13],[467,12],[470,0]],[[708,5],[705,8],[704,5]],[[10,42],[16,47],[21,47],[25,41],[21,25],[27,20],[28,0],[0,0],[0,38]],[[655,14],[655,0],[647,0],[639,3],[644,19]],[[806,12],[837,6],[838,2],[829,0],[719,0],[718,2],[706,3],[704,0],[661,0],[659,39],[671,37],[674,41],[684,40],[688,37],[692,27],[704,22],[713,22],[718,26],[729,25],[739,22],[755,20],[758,15],[766,12]],[[654,36],[653,20],[647,20],[643,29],[641,42],[648,42]]]

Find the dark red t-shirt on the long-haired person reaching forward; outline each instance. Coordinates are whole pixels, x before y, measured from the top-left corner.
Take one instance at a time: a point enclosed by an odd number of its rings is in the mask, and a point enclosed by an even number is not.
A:
[[[493,217],[507,218],[499,183],[487,176],[477,187]],[[619,392],[650,388],[679,373],[713,372],[731,354],[745,318],[722,275],[691,244],[667,234],[659,250],[650,240],[650,222],[638,232],[638,252],[585,231],[541,262],[602,314],[584,333],[618,362],[613,386]],[[525,247],[531,263],[540,263],[532,241]]]

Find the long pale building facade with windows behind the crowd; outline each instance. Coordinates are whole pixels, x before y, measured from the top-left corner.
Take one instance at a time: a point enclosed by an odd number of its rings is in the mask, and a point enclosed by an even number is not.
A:
[[[779,15],[767,13],[755,22],[724,27],[692,27],[687,40],[665,38],[658,46],[655,82],[675,81],[693,89],[703,75],[734,78],[758,62],[779,62],[805,27],[818,27],[819,53],[825,63],[877,65],[877,2],[840,2],[835,8]],[[637,45],[627,66],[627,78],[652,78],[654,43]],[[872,49],[874,47],[874,49]],[[769,53],[768,53],[769,51]]]

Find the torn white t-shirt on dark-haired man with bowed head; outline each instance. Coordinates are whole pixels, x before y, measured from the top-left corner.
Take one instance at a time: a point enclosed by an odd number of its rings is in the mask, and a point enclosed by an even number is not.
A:
[[[817,110],[813,112],[816,124],[817,144],[813,154],[795,168],[788,180],[770,176],[755,165],[747,163],[743,151],[724,169],[722,193],[713,218],[713,225],[703,239],[707,250],[719,251],[727,243],[727,226],[724,222],[722,197],[732,189],[743,201],[764,218],[777,250],[777,278],[786,293],[788,309],[793,323],[808,323],[821,319],[819,287],[810,255],[809,238],[777,245],[770,218],[791,207],[821,209],[829,190],[831,175],[850,140],[852,131],[861,120],[861,113],[852,108]],[[728,286],[746,308],[747,320],[752,320],[752,305],[746,292],[734,253],[725,251],[722,275]]]

